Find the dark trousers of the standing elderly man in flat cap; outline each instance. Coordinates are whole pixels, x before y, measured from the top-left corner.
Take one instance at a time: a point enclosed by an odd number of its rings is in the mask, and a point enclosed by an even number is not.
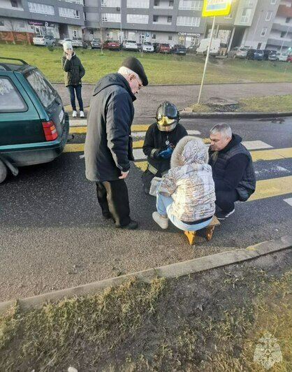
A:
[[[131,222],[129,195],[124,180],[96,182],[96,192],[103,215],[110,213],[116,227]]]

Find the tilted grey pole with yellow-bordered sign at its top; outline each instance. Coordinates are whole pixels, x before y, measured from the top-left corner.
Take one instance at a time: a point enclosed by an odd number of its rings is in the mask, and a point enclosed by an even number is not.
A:
[[[203,90],[205,73],[206,73],[206,70],[207,70],[207,63],[208,63],[208,60],[209,60],[210,49],[211,49],[211,45],[212,45],[212,38],[213,38],[214,26],[215,26],[215,17],[217,15],[228,15],[230,13],[231,1],[232,0],[204,0],[202,15],[203,15],[203,17],[213,17],[213,23],[212,23],[209,46],[208,46],[208,49],[207,49],[207,55],[206,55],[206,60],[205,60],[202,82],[200,83],[200,92],[198,94],[198,104],[200,103],[200,96],[201,96],[202,90]]]

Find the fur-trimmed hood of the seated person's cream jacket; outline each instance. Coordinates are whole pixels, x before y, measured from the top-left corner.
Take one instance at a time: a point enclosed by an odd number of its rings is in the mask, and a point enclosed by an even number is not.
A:
[[[170,159],[170,169],[184,164],[207,164],[209,155],[203,141],[194,136],[182,138],[173,150]]]

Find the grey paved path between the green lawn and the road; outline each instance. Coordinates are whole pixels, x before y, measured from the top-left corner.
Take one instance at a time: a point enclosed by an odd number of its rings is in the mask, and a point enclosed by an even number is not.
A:
[[[64,84],[54,84],[63,99],[64,105],[70,103]],[[85,107],[89,106],[94,85],[82,86],[82,97]],[[198,100],[200,85],[149,85],[138,94],[135,102],[135,117],[154,117],[159,103],[169,100],[180,110]],[[240,99],[251,96],[272,96],[291,94],[292,83],[237,83],[210,84],[203,87],[201,102],[211,97],[223,99]]]

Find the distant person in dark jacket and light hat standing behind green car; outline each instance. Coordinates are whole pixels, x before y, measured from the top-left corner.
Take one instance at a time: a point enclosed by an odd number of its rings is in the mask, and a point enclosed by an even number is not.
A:
[[[75,103],[75,94],[79,104],[80,117],[85,117],[83,101],[81,95],[82,83],[81,79],[85,76],[85,68],[82,66],[80,59],[73,51],[72,43],[65,41],[63,43],[64,55],[61,59],[62,69],[65,71],[65,85],[68,88],[73,110],[73,117],[77,117],[77,109]]]

